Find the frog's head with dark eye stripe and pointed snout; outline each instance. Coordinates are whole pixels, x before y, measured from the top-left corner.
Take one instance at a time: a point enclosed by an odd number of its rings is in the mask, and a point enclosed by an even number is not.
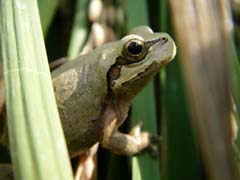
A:
[[[135,28],[118,43],[116,62],[108,72],[111,91],[133,98],[176,54],[167,33],[153,33],[149,27]]]

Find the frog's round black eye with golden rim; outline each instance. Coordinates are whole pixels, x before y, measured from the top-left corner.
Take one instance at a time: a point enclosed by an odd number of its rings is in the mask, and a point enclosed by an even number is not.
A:
[[[123,55],[132,63],[142,60],[147,55],[144,41],[139,39],[127,41],[123,46]]]

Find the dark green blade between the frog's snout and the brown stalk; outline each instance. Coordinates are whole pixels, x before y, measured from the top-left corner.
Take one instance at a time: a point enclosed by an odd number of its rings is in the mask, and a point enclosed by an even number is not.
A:
[[[160,1],[160,30],[169,31],[167,0]],[[170,34],[172,34],[170,32]],[[178,49],[178,54],[180,49]],[[185,87],[177,56],[161,74],[163,89],[163,171],[164,179],[200,180],[200,160],[194,142],[191,119],[185,97]],[[179,103],[181,102],[181,103]]]

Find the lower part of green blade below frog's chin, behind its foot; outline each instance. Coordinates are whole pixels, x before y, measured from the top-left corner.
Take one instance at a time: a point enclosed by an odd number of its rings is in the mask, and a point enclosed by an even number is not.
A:
[[[134,99],[132,106],[132,124],[144,123],[143,130],[157,134],[156,111],[153,81]],[[159,180],[159,158],[153,159],[148,152],[132,158],[133,180]]]

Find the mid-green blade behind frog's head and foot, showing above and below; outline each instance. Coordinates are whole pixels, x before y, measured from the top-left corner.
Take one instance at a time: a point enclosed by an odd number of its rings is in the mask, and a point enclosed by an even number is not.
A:
[[[126,2],[126,16],[128,32],[137,25],[148,25],[147,1],[128,0]],[[144,123],[144,130],[153,134],[157,133],[153,81],[151,81],[133,101],[131,123],[135,125],[139,121]],[[147,153],[142,153],[137,157],[133,157],[132,179],[159,180],[159,159],[153,159]]]

